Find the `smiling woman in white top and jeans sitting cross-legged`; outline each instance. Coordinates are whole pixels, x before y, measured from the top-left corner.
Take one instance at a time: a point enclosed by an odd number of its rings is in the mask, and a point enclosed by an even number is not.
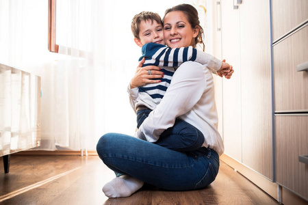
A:
[[[164,38],[171,48],[196,46],[202,42],[198,12],[182,4],[166,10]],[[231,73],[232,74],[232,73]],[[177,117],[196,126],[205,136],[203,147],[191,152],[177,152],[127,135],[108,133],[97,144],[103,162],[123,177],[114,178],[103,187],[108,197],[127,197],[144,182],[161,189],[183,191],[206,187],[219,169],[219,155],[224,146],[217,131],[211,71],[195,62],[182,64],[172,77],[170,87],[157,108],[138,130],[138,137],[157,139],[173,126]]]

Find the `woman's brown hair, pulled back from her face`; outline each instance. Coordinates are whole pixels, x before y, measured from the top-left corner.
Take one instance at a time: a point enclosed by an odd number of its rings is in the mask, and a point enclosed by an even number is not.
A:
[[[169,8],[168,10],[166,10],[164,18],[163,18],[163,23],[164,23],[164,19],[166,17],[166,14],[170,13],[170,12],[183,12],[183,14],[185,14],[185,16],[188,19],[188,22],[190,23],[192,29],[194,29],[196,26],[199,27],[199,33],[198,36],[196,36],[196,38],[194,38],[194,46],[196,46],[196,44],[202,44],[203,45],[203,51],[205,50],[205,44],[203,42],[203,28],[200,25],[200,21],[199,21],[199,17],[198,17],[198,11],[196,10],[196,8],[194,8],[192,5],[187,4],[187,3],[183,3],[183,4],[179,4],[176,5],[172,8]]]

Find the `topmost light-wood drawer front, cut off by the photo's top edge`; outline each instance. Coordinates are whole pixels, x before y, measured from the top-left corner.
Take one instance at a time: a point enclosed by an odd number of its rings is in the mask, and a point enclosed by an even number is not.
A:
[[[308,20],[307,0],[272,0],[272,35],[274,41],[306,20]]]

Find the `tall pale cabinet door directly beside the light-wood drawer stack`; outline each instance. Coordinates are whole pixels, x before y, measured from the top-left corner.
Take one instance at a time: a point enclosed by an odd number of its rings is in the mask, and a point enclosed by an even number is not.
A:
[[[272,179],[270,4],[242,2],[239,6],[242,162]]]

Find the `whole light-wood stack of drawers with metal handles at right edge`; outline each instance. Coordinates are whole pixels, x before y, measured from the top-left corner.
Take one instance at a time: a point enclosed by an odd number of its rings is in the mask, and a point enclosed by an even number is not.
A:
[[[308,200],[308,1],[272,0],[272,22],[276,181]]]

